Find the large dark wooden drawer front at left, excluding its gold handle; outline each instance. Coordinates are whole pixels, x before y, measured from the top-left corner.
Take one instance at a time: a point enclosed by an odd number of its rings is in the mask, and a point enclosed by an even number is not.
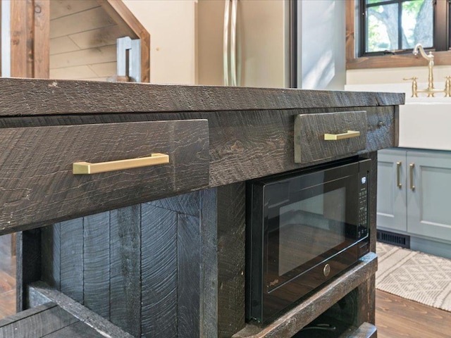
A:
[[[73,163],[169,163],[73,175]],[[0,129],[0,234],[208,187],[207,120]]]

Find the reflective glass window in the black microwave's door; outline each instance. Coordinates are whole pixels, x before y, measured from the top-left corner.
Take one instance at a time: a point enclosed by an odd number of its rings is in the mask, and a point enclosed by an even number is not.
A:
[[[285,198],[267,205],[268,292],[356,242],[356,182],[350,175],[314,186],[281,182],[271,188],[281,189]]]

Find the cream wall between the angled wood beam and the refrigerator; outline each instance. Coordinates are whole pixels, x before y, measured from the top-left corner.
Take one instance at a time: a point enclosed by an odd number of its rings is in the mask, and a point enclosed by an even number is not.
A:
[[[150,82],[194,84],[194,1],[123,0],[150,34]]]

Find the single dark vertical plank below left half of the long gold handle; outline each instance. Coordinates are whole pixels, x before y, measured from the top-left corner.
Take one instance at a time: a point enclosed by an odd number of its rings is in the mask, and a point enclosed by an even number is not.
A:
[[[83,223],[84,304],[109,319],[110,213],[89,215]]]

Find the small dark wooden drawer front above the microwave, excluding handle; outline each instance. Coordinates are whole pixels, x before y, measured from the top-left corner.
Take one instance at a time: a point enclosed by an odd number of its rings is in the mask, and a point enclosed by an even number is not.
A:
[[[295,118],[295,162],[307,163],[354,154],[366,146],[366,111],[301,114]],[[325,134],[357,131],[359,136],[326,141]]]

